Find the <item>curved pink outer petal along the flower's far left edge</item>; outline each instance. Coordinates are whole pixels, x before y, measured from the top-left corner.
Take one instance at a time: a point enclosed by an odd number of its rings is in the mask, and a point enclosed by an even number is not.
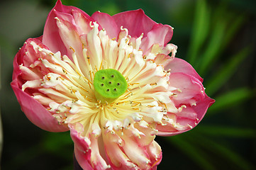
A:
[[[21,69],[19,68],[19,65],[23,64],[29,66],[36,60],[33,58],[33,55],[26,55],[26,53],[33,54],[33,47],[30,47],[29,43],[34,41],[40,44],[40,39],[41,38],[28,39],[25,42],[25,45],[17,53],[13,61],[13,81],[11,82],[11,87],[16,94],[18,103],[21,105],[21,110],[32,123],[39,128],[50,132],[67,131],[68,128],[65,125],[59,125],[57,120],[38,101],[21,90],[23,81],[20,79]]]

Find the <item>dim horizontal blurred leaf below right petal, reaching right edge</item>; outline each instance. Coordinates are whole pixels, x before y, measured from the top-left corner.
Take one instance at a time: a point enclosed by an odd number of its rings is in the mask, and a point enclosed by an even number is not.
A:
[[[196,132],[213,137],[255,137],[256,130],[250,128],[235,128],[217,125],[200,125]]]

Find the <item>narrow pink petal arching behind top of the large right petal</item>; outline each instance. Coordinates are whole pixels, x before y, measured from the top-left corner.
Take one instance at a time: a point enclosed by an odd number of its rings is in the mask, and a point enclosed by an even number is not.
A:
[[[197,74],[196,70],[191,66],[191,64],[189,64],[185,60],[174,58],[172,62],[169,62],[169,64],[167,64],[165,69],[171,69],[171,73],[182,72],[184,74],[188,74],[203,82],[203,79],[199,76],[199,74]]]

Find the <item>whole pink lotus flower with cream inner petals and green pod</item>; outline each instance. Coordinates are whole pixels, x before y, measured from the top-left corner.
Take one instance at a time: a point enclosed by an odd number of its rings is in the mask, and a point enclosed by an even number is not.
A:
[[[11,86],[35,125],[70,130],[83,169],[157,169],[155,135],[191,130],[214,102],[174,58],[172,31],[142,10],[89,16],[57,1],[18,51]]]

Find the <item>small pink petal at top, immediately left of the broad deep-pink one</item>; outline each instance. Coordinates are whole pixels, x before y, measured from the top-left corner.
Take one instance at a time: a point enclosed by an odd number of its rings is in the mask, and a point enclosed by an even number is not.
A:
[[[116,22],[114,21],[112,16],[108,15],[108,13],[101,13],[97,11],[92,14],[91,18],[94,18],[94,20],[99,23],[101,28],[104,28],[106,30],[109,38],[118,38],[120,28],[116,26]]]

